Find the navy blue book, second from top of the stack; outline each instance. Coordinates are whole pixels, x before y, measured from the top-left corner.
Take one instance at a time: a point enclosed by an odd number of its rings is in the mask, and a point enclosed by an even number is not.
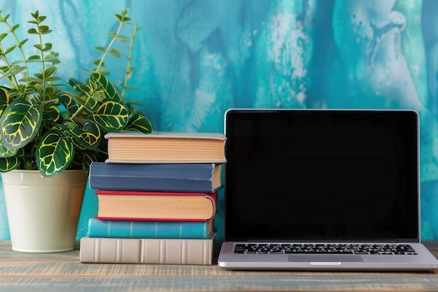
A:
[[[90,188],[215,193],[222,187],[221,164],[135,164],[93,162]]]

